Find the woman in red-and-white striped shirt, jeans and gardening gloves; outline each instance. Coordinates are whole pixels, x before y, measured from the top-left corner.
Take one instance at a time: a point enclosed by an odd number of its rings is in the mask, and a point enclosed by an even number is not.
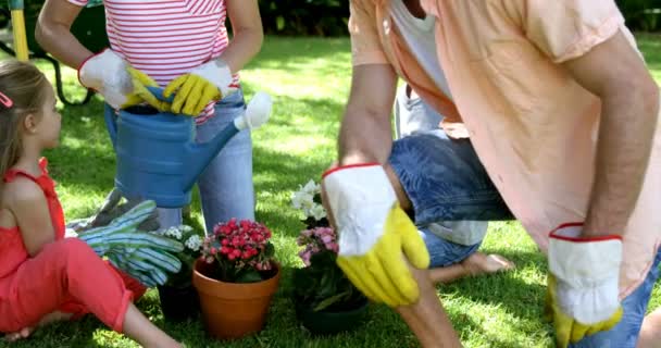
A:
[[[88,0],[47,0],[36,37],[41,47],[78,69],[80,83],[114,108],[136,98],[133,67],[176,92],[172,112],[196,116],[204,142],[244,112],[236,74],[260,50],[263,33],[257,0],[104,0],[110,49],[93,54],[70,27]],[[229,17],[233,39],[225,27]],[[139,87],[139,86],[138,86]],[[159,103],[148,99],[151,104]],[[163,107],[163,105],[161,105]],[[252,141],[236,135],[198,181],[207,231],[230,217],[254,220]],[[162,227],[179,225],[180,209],[159,209]]]

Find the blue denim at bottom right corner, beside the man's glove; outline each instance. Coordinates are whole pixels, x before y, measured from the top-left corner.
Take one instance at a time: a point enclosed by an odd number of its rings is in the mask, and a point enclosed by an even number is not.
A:
[[[652,295],[654,283],[659,278],[661,250],[647,277],[638,288],[622,301],[624,314],[622,321],[613,328],[587,336],[570,348],[635,348],[640,334],[640,325]]]

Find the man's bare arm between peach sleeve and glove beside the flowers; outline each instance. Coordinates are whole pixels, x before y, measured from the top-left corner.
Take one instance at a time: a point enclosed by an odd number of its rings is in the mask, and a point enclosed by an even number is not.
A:
[[[390,113],[397,75],[390,65],[353,67],[351,92],[339,134],[339,165],[385,164],[392,147]]]

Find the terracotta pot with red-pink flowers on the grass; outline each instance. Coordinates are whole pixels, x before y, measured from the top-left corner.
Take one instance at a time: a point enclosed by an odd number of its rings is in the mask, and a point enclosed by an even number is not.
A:
[[[279,276],[271,231],[249,220],[217,224],[202,241],[192,284],[208,333],[233,339],[264,325]]]

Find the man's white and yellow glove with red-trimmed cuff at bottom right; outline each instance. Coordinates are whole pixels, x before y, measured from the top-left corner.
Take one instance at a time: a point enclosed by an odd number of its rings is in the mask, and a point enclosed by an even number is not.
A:
[[[561,225],[549,239],[546,313],[561,348],[611,330],[622,319],[618,287],[622,238],[581,238],[582,226]]]

